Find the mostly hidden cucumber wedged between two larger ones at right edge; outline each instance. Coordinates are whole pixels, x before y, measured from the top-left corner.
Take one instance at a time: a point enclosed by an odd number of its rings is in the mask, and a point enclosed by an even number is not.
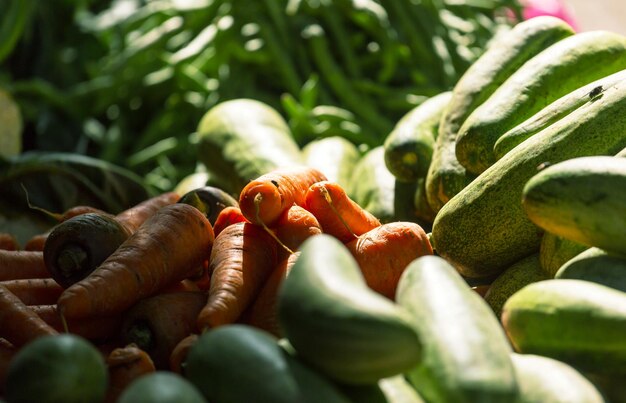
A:
[[[626,259],[589,248],[565,262],[554,277],[592,281],[626,292]]]

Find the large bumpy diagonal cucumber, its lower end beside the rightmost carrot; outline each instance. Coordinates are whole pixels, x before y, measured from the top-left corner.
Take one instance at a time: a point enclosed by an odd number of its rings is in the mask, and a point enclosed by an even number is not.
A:
[[[435,250],[466,277],[500,273],[537,252],[543,230],[522,208],[522,191],[542,164],[626,147],[626,82],[515,147],[437,213]]]

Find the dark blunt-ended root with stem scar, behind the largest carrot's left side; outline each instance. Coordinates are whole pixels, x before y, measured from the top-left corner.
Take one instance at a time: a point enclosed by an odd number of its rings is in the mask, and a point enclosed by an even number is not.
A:
[[[44,245],[50,275],[64,288],[87,277],[130,233],[115,217],[86,213],[56,225]]]

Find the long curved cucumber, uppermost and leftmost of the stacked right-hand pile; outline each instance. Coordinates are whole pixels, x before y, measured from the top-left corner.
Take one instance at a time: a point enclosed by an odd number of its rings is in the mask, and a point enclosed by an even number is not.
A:
[[[527,60],[573,34],[572,27],[559,18],[522,21],[496,37],[459,79],[441,117],[426,175],[428,203],[435,212],[474,178],[455,154],[457,132],[465,119]]]

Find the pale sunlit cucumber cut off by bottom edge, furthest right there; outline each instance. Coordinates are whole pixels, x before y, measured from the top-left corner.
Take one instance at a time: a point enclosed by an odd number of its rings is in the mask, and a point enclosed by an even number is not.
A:
[[[604,403],[602,394],[571,365],[536,354],[512,353],[520,394],[516,403]]]

